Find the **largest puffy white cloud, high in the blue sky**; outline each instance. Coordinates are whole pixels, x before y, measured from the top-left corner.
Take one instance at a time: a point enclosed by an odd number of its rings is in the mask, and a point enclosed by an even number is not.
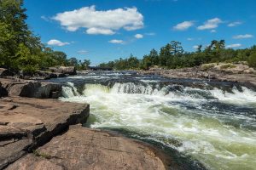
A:
[[[132,31],[143,28],[143,14],[137,8],[96,10],[95,6],[75,9],[56,14],[53,20],[61,23],[67,31],[85,28],[88,34],[113,35],[123,28]]]

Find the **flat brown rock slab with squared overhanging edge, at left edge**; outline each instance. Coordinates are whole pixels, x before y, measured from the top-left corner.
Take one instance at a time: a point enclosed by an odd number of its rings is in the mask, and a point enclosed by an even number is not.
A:
[[[55,99],[0,99],[0,169],[47,143],[69,125],[86,122],[89,105]]]

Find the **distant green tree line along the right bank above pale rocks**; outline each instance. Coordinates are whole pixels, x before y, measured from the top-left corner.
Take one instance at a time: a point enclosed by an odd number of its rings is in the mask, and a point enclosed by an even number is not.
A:
[[[166,69],[177,69],[207,63],[239,61],[247,61],[248,65],[256,68],[256,45],[251,48],[233,49],[225,48],[224,40],[212,40],[206,48],[199,45],[195,52],[184,52],[181,42],[172,41],[160,48],[160,52],[153,48],[149,54],[143,56],[143,59],[137,59],[131,54],[126,59],[115,59],[99,66],[111,67],[114,70],[147,70],[154,65]]]

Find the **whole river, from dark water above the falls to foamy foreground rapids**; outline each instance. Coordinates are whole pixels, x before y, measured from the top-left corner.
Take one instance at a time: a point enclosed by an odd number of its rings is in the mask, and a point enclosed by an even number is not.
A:
[[[90,104],[85,126],[154,144],[189,169],[256,168],[256,91],[248,84],[125,71],[52,81],[65,84],[60,100]]]

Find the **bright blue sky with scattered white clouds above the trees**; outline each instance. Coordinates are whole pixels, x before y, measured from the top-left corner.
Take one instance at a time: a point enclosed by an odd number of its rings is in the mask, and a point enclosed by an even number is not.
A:
[[[25,0],[27,23],[42,42],[92,65],[143,58],[167,42],[186,51],[224,39],[256,44],[255,0]]]

